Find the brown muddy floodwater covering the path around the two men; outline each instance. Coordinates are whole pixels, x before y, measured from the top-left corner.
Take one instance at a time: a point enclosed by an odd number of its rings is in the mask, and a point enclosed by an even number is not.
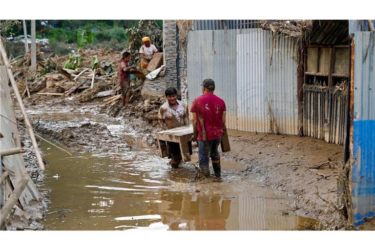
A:
[[[49,162],[43,184],[50,190],[48,230],[289,230],[307,221],[291,215],[291,198],[241,175],[241,164],[223,161],[220,183],[191,182],[191,165],[172,170],[125,121],[85,110],[54,111],[40,108],[29,115],[58,125],[104,123],[132,150],[69,156],[42,143]]]

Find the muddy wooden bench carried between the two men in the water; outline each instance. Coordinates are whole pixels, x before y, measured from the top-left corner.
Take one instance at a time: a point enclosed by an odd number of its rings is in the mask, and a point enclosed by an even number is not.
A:
[[[169,151],[167,142],[173,142],[180,144],[181,156],[184,162],[191,161],[190,155],[193,154],[191,146],[191,136],[193,135],[193,126],[185,125],[160,131],[156,133],[158,139],[160,157],[168,157]],[[230,145],[228,139],[227,128],[224,126],[224,133],[221,140],[221,151],[229,152]]]

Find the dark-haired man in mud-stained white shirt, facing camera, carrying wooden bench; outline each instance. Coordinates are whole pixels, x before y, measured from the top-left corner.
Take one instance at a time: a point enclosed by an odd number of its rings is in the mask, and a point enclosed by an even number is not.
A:
[[[174,87],[168,87],[165,90],[167,102],[159,108],[159,124],[163,130],[188,125],[187,105],[177,100],[177,90]],[[182,156],[180,145],[178,143],[167,142],[169,157],[172,158],[169,164],[172,168],[178,168]]]

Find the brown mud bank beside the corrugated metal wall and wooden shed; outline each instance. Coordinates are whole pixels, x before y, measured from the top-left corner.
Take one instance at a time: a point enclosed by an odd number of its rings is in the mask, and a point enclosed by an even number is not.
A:
[[[338,163],[343,146],[311,137],[229,130],[227,159],[244,163],[243,174],[276,193],[294,196],[292,212],[320,221],[332,217],[337,203]]]

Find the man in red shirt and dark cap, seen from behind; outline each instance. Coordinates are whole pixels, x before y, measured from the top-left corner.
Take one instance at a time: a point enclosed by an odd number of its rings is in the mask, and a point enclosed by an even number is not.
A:
[[[190,112],[193,113],[192,141],[197,141],[199,156],[199,172],[196,179],[209,177],[209,157],[212,161],[214,176],[220,178],[220,154],[217,150],[223,127],[225,125],[226,105],[225,102],[215,96],[215,82],[206,79],[202,83],[203,95],[194,99]]]

